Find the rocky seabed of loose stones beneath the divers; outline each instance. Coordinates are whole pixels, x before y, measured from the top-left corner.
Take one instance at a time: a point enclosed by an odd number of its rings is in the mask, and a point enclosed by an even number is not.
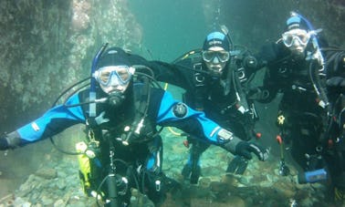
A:
[[[202,157],[202,173],[197,185],[183,181],[181,170],[188,156],[182,138],[164,135],[163,169],[182,187],[168,193],[163,206],[337,206],[329,202],[325,184],[300,185],[296,176],[278,175],[279,160],[254,158],[244,175],[225,174],[233,155],[212,146]],[[291,166],[291,174],[297,171]],[[131,206],[153,206],[145,196],[133,191]],[[62,156],[42,163],[36,173],[11,194],[0,200],[4,206],[98,206],[84,195],[78,179],[78,160]]]

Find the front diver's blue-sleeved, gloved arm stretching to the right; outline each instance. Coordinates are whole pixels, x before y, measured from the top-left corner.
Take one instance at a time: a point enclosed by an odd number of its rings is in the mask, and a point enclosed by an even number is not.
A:
[[[183,129],[183,131],[206,142],[221,146],[233,154],[251,159],[250,153],[254,152],[259,160],[267,160],[267,149],[238,139],[231,131],[223,129],[213,120],[207,119],[204,112],[193,110],[182,102],[174,100],[170,93],[164,93],[157,118],[158,124],[162,126]]]

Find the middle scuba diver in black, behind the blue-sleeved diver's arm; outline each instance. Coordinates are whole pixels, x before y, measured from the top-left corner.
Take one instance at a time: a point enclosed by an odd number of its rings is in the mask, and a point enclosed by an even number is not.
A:
[[[225,35],[226,34],[226,35]],[[250,88],[257,68],[256,57],[244,47],[234,47],[227,32],[214,31],[206,36],[203,49],[192,50],[173,61],[171,66],[154,67],[155,78],[185,89],[183,102],[204,111],[209,119],[234,132],[241,140],[256,140],[258,119],[255,96]],[[253,97],[253,98],[251,98]],[[201,175],[200,157],[210,144],[187,136],[190,155],[183,167],[183,177],[195,184]],[[243,174],[248,158],[235,156],[227,172]]]

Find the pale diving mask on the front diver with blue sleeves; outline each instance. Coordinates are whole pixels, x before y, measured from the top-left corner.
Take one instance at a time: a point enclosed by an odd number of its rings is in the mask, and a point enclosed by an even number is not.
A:
[[[103,87],[123,86],[130,82],[134,70],[134,67],[128,66],[99,67],[93,74],[93,77]]]

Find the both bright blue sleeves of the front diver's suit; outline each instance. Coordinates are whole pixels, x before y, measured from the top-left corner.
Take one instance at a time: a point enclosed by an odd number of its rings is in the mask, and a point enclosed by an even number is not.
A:
[[[69,98],[66,103],[68,106],[82,101],[77,94]],[[173,99],[169,92],[154,89],[152,91],[151,103],[149,104],[149,119],[154,125],[177,127],[188,133],[200,135],[204,141],[217,143],[218,140],[216,140],[215,136],[217,131],[213,130],[218,125],[214,121],[206,119],[204,112],[188,107],[186,107],[186,114],[183,117],[176,117],[173,113],[173,107],[178,103],[181,102]],[[46,139],[75,124],[85,123],[86,119],[88,119],[88,111],[85,111],[80,106],[72,108],[67,106],[58,105],[49,109],[42,117],[16,129],[20,135],[20,145]],[[125,115],[122,114],[122,111],[113,112],[115,114],[112,114],[113,119],[110,118],[110,123],[114,123],[114,125],[121,124],[120,120],[117,119],[117,115],[120,117]]]

